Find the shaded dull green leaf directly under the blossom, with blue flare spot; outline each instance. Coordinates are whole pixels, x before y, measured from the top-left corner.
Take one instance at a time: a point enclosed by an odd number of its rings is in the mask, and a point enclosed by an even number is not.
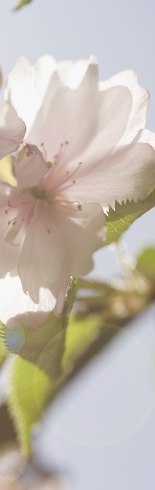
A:
[[[51,313],[46,322],[35,330],[28,330],[24,325],[14,330],[3,326],[3,338],[9,351],[37,364],[38,367],[44,369],[52,381],[60,376],[66,328],[75,291],[74,279],[71,278],[66,290],[63,314],[56,318]]]

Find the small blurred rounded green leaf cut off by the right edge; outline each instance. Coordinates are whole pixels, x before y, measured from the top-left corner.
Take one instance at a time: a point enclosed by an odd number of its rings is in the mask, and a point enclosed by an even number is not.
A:
[[[136,268],[152,282],[155,282],[155,248],[146,248],[137,257]]]

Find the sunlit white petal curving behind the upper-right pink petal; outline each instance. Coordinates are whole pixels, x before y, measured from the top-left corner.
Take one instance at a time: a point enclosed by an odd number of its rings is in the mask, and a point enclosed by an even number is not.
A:
[[[137,75],[132,70],[124,70],[108,80],[99,82],[99,89],[107,90],[116,85],[128,87],[133,99],[128,125],[119,142],[120,145],[124,145],[132,142],[138,131],[145,126],[149,94],[138,85]]]

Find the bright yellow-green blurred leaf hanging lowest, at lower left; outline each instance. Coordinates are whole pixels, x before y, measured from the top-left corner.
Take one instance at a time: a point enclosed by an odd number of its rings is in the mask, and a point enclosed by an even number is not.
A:
[[[30,428],[43,412],[49,386],[50,381],[44,371],[13,355],[7,385],[7,404],[26,458],[30,455]],[[39,408],[37,398],[40,401]]]

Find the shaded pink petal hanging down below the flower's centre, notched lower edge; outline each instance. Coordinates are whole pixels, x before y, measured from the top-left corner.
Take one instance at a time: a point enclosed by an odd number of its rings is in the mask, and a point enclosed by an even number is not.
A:
[[[41,286],[57,299],[71,275],[92,268],[92,253],[104,235],[104,214],[100,204],[86,204],[81,211],[77,206],[44,205],[43,211],[38,203],[38,216],[29,225],[18,263],[23,290],[35,302]]]

